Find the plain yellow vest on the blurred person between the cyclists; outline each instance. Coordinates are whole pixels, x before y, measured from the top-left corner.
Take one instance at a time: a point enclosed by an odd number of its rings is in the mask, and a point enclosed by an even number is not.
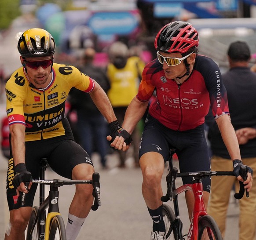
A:
[[[107,95],[113,107],[128,106],[138,92],[139,77],[143,69],[139,68],[137,58],[128,58],[122,69],[117,69],[112,63],[107,67],[110,80],[110,90]]]

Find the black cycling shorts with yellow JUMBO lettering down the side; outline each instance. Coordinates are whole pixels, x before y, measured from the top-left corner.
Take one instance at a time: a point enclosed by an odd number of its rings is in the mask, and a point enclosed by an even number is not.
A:
[[[92,161],[86,151],[80,147],[73,138],[59,136],[40,141],[26,142],[26,168],[31,172],[33,179],[39,179],[40,160],[46,157],[53,171],[64,178],[72,179],[72,170],[77,164],[90,164]],[[17,200],[16,190],[12,184],[14,177],[13,158],[9,160],[7,170],[7,202],[9,210]],[[32,184],[26,196],[24,207],[32,207],[33,199],[37,190],[37,184]]]

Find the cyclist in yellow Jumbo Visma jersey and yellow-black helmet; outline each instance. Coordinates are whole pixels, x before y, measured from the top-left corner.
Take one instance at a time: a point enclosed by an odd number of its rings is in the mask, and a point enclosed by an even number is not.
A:
[[[89,76],[70,65],[53,63],[55,41],[44,29],[29,29],[18,40],[22,67],[6,84],[7,116],[11,133],[11,153],[7,171],[7,201],[10,222],[5,240],[25,240],[24,232],[33,206],[40,159],[59,175],[73,180],[91,179],[93,163],[84,149],[73,140],[65,118],[65,101],[72,87],[90,94],[109,123],[113,138],[132,141],[113,113],[106,93]],[[24,182],[29,182],[28,191]],[[13,209],[18,196],[26,194],[24,206]],[[69,207],[67,240],[75,240],[91,209],[91,185],[76,185]]]

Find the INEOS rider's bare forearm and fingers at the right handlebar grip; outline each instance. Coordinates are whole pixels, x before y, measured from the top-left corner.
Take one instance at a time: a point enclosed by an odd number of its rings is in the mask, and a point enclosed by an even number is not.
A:
[[[230,116],[223,115],[216,119],[216,123],[218,124],[219,131],[221,133],[223,142],[225,143],[230,158],[232,160],[240,159],[241,154],[238,145],[238,139],[234,131],[234,127],[230,122]],[[238,180],[243,182],[243,178],[238,176]],[[245,189],[248,191],[252,188],[252,175],[250,172],[247,174],[247,179],[244,181]]]

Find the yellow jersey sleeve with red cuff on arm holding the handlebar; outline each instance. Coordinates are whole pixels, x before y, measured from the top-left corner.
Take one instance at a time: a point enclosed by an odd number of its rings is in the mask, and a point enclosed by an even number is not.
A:
[[[6,83],[6,113],[11,124],[25,123],[23,100],[26,98],[26,88],[21,86],[14,76]]]

